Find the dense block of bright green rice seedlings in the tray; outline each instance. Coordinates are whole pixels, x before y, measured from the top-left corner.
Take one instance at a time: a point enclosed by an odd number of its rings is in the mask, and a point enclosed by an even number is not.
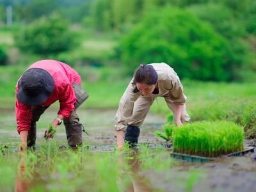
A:
[[[173,127],[173,152],[216,157],[243,150],[243,127],[234,122],[195,122]]]

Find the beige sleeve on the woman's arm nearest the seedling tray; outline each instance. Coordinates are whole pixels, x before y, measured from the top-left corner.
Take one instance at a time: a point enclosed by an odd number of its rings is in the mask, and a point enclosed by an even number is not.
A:
[[[186,96],[183,92],[183,86],[178,76],[170,77],[169,81],[166,82],[169,90],[169,97],[174,104],[185,104]]]

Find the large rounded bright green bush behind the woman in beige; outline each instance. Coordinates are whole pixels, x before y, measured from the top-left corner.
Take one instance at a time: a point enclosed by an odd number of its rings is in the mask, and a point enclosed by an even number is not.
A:
[[[180,77],[228,81],[232,77],[230,46],[193,13],[164,8],[148,13],[120,42],[129,72],[140,63],[165,62]]]

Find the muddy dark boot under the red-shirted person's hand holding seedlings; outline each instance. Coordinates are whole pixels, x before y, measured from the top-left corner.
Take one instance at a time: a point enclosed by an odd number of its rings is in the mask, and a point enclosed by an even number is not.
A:
[[[77,148],[77,146],[82,145],[82,124],[66,124],[66,135],[68,140],[68,145],[72,148]]]

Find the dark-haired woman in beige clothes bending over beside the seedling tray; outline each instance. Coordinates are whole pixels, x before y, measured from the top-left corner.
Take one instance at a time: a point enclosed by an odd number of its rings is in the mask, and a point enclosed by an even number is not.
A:
[[[140,125],[156,97],[164,97],[173,112],[173,122],[180,126],[189,122],[183,86],[172,67],[166,63],[151,63],[136,68],[133,78],[122,96],[115,117],[116,145],[124,140],[134,147],[138,143]],[[125,132],[125,136],[124,136]]]

